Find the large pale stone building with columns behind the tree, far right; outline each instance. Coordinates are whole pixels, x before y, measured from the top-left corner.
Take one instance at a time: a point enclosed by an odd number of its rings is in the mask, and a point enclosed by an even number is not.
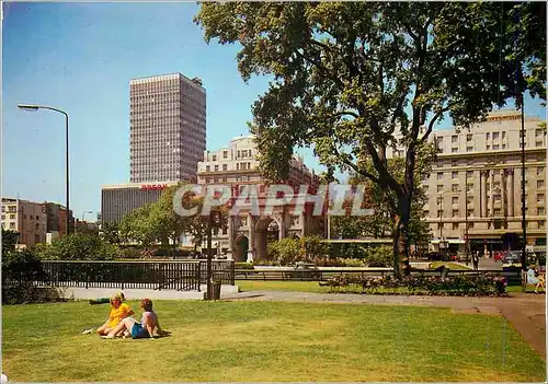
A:
[[[527,244],[546,245],[546,133],[525,118]],[[441,153],[423,182],[425,206],[439,243],[483,253],[514,248],[522,235],[521,113],[501,110],[470,130],[434,131]],[[441,242],[442,241],[442,242]]]

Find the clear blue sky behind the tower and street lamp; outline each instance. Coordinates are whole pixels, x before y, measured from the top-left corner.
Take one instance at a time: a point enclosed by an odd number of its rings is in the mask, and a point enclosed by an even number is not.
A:
[[[186,3],[3,3],[2,196],[65,203],[65,120],[70,115],[70,208],[94,220],[101,186],[129,182],[129,80],[181,72],[207,92],[207,149],[248,135],[267,78],[244,83],[237,46],[206,44]],[[545,118],[538,102],[525,113]],[[442,126],[450,126],[447,119]],[[310,150],[307,165],[321,172]]]

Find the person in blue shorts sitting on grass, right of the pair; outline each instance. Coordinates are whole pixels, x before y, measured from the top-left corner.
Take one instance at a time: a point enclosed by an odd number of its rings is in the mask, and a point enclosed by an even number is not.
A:
[[[137,323],[133,317],[126,317],[116,328],[109,333],[106,338],[115,338],[123,334],[127,335],[127,333],[129,333],[134,339],[168,336],[169,333],[162,329],[158,322],[158,315],[152,310],[152,300],[142,299],[140,307],[142,310],[140,323]]]

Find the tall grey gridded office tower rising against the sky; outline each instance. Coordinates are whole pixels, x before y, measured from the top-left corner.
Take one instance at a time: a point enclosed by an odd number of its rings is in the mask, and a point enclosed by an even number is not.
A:
[[[206,91],[181,73],[129,81],[130,181],[193,181],[206,148]]]

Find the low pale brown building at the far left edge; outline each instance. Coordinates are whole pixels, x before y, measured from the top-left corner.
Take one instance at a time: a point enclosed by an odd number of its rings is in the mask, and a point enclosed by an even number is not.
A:
[[[19,232],[20,246],[44,243],[47,231],[45,207],[41,202],[2,198],[2,229]]]

